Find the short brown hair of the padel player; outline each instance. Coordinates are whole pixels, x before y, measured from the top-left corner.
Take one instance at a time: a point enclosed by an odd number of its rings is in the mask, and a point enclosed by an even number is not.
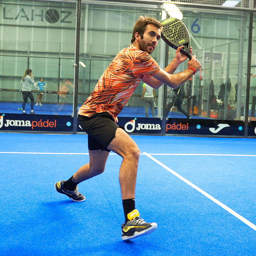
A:
[[[156,18],[148,17],[146,15],[145,16],[140,16],[139,20],[137,20],[135,22],[135,25],[133,27],[133,35],[132,35],[131,43],[133,43],[135,41],[134,34],[136,32],[138,32],[140,37],[143,38],[143,34],[145,32],[146,25],[148,25],[148,24],[153,24],[156,27],[160,28],[160,30],[162,30],[162,24],[161,24],[160,21],[156,20]]]

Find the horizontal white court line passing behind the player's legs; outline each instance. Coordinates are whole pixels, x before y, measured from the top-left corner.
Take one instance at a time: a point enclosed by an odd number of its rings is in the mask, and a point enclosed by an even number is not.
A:
[[[0,154],[42,154],[42,155],[89,155],[89,153],[58,153],[58,152],[4,152]],[[117,155],[116,153],[110,153],[110,155]],[[232,154],[148,154],[142,153],[140,155],[184,155],[184,156],[256,156],[256,155],[232,155]]]

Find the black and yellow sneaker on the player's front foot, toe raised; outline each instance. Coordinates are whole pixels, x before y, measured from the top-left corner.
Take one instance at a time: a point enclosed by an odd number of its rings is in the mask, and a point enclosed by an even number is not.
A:
[[[139,217],[139,211],[133,210],[127,214],[128,221],[122,224],[122,239],[129,240],[139,236],[148,235],[157,228],[155,222],[147,223]]]

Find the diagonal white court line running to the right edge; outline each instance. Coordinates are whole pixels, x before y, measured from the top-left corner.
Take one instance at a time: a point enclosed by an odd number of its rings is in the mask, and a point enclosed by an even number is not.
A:
[[[212,200],[214,203],[218,204],[220,207],[222,207],[223,209],[225,209],[226,211],[228,211],[229,213],[231,213],[232,215],[234,215],[236,218],[240,219],[242,222],[244,222],[246,225],[248,225],[250,228],[254,229],[256,231],[256,226],[254,224],[252,224],[251,222],[249,222],[249,220],[245,219],[244,217],[242,217],[240,214],[236,213],[234,210],[230,209],[228,206],[226,206],[225,204],[223,204],[222,202],[220,202],[219,200],[217,200],[216,198],[210,196],[208,193],[206,193],[205,191],[203,191],[201,188],[197,187],[196,185],[194,185],[192,182],[188,181],[187,179],[185,179],[184,177],[182,177],[181,175],[177,174],[177,172],[173,171],[172,169],[170,169],[169,167],[167,167],[166,165],[162,164],[160,161],[158,161],[157,159],[155,159],[153,156],[149,155],[146,152],[143,152],[144,155],[148,156],[150,159],[152,159],[153,161],[155,161],[156,163],[158,163],[159,165],[161,165],[162,167],[164,167],[164,169],[166,169],[167,171],[171,172],[171,174],[175,175],[177,178],[179,178],[180,180],[184,181],[185,183],[187,183],[188,185],[190,185],[192,188],[194,188],[195,190],[197,190],[198,192],[202,193],[204,196],[206,196],[207,198],[209,198],[210,200]]]

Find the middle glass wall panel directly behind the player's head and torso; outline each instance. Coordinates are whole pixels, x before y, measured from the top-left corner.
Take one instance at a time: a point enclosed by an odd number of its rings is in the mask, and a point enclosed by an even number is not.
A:
[[[107,66],[111,63],[116,54],[123,48],[131,44],[132,30],[134,23],[140,15],[148,15],[161,20],[159,10],[150,10],[145,8],[135,8],[127,6],[104,6],[104,5],[82,5],[82,14],[85,22],[81,22],[80,47],[81,56],[89,58],[89,69],[80,69],[80,72],[90,72],[87,75],[90,79],[86,83],[86,92],[92,92],[98,79],[101,77]],[[86,21],[87,18],[87,21]],[[86,37],[87,33],[87,37]],[[159,42],[164,44],[164,42]],[[159,47],[159,46],[158,46]],[[151,56],[158,61],[160,51],[156,48]],[[79,93],[84,89],[79,87]],[[145,117],[144,101],[142,100],[143,82],[140,82],[130,97],[127,105],[123,108],[119,116],[127,117]],[[158,92],[153,111],[157,113]],[[79,96],[80,105],[84,102],[87,95]],[[152,117],[149,109],[149,117]]]

